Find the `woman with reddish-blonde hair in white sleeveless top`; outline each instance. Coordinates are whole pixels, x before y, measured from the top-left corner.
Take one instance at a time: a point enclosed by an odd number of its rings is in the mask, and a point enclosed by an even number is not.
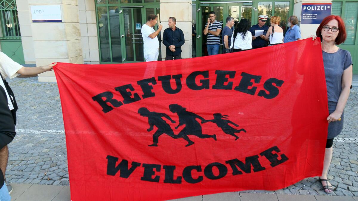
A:
[[[265,39],[270,39],[270,45],[277,45],[284,43],[284,30],[279,26],[281,22],[280,16],[273,16],[270,20],[271,26],[267,30]],[[274,34],[272,34],[272,32]]]

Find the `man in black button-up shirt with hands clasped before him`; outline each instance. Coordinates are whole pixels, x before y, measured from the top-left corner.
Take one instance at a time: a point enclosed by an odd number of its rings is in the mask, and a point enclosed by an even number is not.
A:
[[[165,60],[181,59],[182,48],[184,45],[184,33],[176,26],[176,19],[170,17],[168,20],[169,28],[163,32],[163,44],[166,46]]]

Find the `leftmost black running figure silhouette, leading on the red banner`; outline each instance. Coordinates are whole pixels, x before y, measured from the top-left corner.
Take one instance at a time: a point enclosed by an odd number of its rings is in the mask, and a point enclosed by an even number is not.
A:
[[[177,135],[174,134],[173,129],[170,128],[169,124],[166,123],[162,117],[165,117],[171,121],[171,123],[175,123],[173,119],[171,119],[168,114],[165,113],[159,113],[159,112],[150,112],[147,108],[142,107],[138,109],[138,114],[142,117],[148,117],[148,123],[149,128],[147,131],[152,131],[154,129],[154,126],[158,128],[158,130],[153,134],[153,144],[150,144],[148,146],[150,147],[158,147],[158,138],[162,134],[167,134],[168,136],[177,139],[180,138]]]

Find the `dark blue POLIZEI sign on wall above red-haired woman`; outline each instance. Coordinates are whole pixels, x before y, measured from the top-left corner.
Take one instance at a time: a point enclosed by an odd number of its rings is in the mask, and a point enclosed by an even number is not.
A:
[[[332,3],[307,3],[302,4],[301,24],[320,24],[321,21],[331,15]]]

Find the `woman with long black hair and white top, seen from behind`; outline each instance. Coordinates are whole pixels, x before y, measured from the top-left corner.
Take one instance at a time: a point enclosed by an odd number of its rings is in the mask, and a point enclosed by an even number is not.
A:
[[[243,50],[252,49],[252,36],[250,30],[250,24],[247,19],[241,19],[234,29],[233,36],[231,37],[230,48],[233,48],[233,52],[240,52]],[[235,39],[235,40],[234,40]]]

